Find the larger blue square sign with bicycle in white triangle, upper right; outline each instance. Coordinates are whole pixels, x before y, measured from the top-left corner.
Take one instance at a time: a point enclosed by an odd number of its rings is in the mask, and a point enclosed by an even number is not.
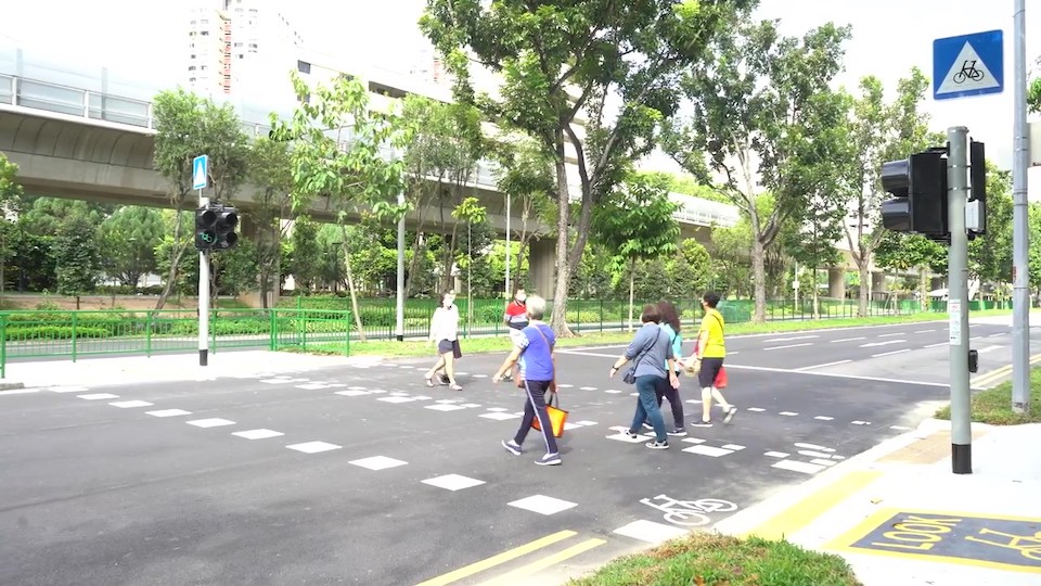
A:
[[[1001,30],[933,41],[933,98],[951,100],[1001,93],[1005,89]]]

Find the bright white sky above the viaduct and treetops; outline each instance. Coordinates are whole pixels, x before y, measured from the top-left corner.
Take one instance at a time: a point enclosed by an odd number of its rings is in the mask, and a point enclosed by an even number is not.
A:
[[[79,63],[140,72],[150,79],[182,80],[187,7],[200,0],[34,0],[10,2],[0,22],[0,47],[21,46]],[[202,0],[205,1],[205,0]],[[273,0],[272,0],[273,1]],[[294,0],[277,2],[321,52],[350,61],[378,60],[388,69],[407,69],[423,46],[416,21],[424,0]],[[1027,30],[1041,30],[1041,7],[1027,11]],[[933,40],[991,29],[1004,30],[1006,89],[995,95],[925,103],[930,127],[966,126],[987,143],[988,158],[1011,168],[1013,155],[1014,0],[761,0],[757,16],[780,18],[782,31],[801,35],[833,21],[852,25],[846,71],[836,84],[856,90],[865,75],[882,79],[888,95],[913,66],[933,77]],[[1029,8],[1029,7],[1028,7]],[[60,14],[60,18],[54,15]],[[83,26],[82,23],[90,23]],[[75,56],[73,56],[75,55]],[[1027,36],[1028,67],[1041,55],[1041,37]],[[1041,71],[1037,72],[1041,75]],[[653,165],[667,166],[656,160]],[[1032,182],[1041,174],[1030,173]],[[1041,196],[1041,184],[1031,189]]]

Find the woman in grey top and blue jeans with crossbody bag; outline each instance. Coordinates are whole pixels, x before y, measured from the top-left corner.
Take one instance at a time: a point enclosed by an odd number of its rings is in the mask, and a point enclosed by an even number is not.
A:
[[[647,447],[668,449],[669,440],[665,434],[665,421],[661,419],[661,409],[658,408],[654,390],[665,380],[669,381],[672,388],[679,388],[680,381],[676,377],[676,356],[672,354],[669,336],[658,326],[661,321],[658,306],[645,305],[640,321],[643,322],[643,327],[629,343],[625,355],[611,367],[611,377],[614,377],[626,362],[630,360],[635,362],[633,374],[637,377],[640,399],[637,403],[632,424],[629,425],[629,435],[635,437],[643,422],[650,419],[651,425],[654,426],[655,441],[647,442]]]

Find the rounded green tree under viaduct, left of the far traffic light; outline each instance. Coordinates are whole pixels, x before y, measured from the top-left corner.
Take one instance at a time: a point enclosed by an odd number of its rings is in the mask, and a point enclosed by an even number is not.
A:
[[[155,247],[165,235],[163,215],[152,207],[127,205],[101,222],[102,268],[137,289],[141,276],[156,270]]]

